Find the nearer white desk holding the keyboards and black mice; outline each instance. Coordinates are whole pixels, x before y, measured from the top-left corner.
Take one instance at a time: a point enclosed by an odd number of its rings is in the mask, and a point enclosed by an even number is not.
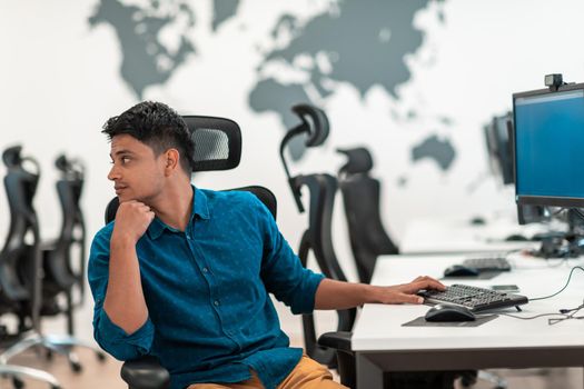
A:
[[[377,262],[372,283],[402,283],[420,272],[439,277],[446,266],[461,260],[461,256],[385,256]],[[541,259],[514,262],[517,268],[508,273],[491,280],[463,282],[481,287],[516,283],[521,295],[541,297],[560,290],[571,267],[582,265],[578,260],[560,267],[550,267]],[[505,311],[521,316],[557,312],[561,308],[580,306],[583,298],[584,272],[576,270],[568,288],[557,297],[522,306],[523,312],[514,308]],[[383,371],[584,365],[584,320],[565,320],[550,326],[545,317],[518,320],[499,316],[479,327],[402,327],[427,310],[427,306],[364,307],[352,339],[358,388],[383,388]]]

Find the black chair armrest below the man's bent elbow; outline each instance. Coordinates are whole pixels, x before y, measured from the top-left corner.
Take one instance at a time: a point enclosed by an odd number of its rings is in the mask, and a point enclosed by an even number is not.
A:
[[[170,373],[155,357],[123,362],[120,376],[130,389],[167,389],[170,385]]]

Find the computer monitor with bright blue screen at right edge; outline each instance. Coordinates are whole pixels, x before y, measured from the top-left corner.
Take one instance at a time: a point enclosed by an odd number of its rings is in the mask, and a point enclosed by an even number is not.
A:
[[[513,94],[518,203],[584,207],[584,84]]]

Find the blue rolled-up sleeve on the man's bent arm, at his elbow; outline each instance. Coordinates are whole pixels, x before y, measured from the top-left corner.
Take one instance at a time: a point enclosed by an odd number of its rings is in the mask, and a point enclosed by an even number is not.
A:
[[[93,238],[89,253],[88,279],[93,296],[93,337],[98,345],[119,360],[136,359],[149,353],[155,327],[148,318],[135,332],[128,335],[116,326],[103,309],[109,276],[109,240],[111,226]]]

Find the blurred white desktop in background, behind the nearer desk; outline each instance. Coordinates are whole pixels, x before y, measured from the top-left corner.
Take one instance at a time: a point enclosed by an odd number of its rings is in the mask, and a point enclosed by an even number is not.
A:
[[[536,248],[529,241],[505,241],[511,235],[532,237],[544,232],[545,226],[518,226],[506,219],[491,220],[485,225],[472,225],[467,219],[417,219],[406,226],[399,242],[399,252],[457,253],[482,251],[512,251]]]

